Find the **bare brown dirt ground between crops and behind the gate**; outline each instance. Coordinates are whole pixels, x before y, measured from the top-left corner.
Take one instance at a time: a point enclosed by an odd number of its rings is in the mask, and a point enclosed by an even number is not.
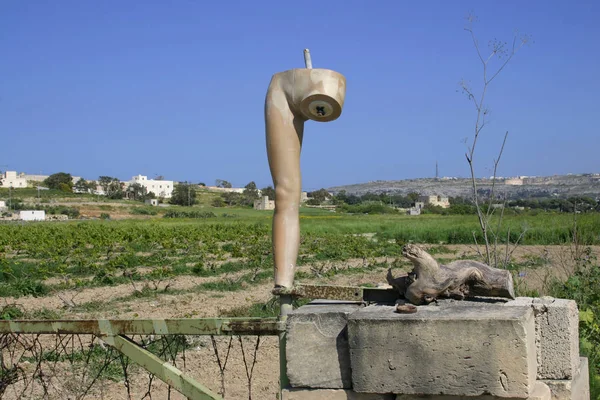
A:
[[[457,258],[474,257],[477,253],[473,246],[465,245],[448,245],[442,247],[426,245],[424,247],[430,249],[434,257],[441,263],[447,263]],[[544,289],[551,279],[566,278],[573,270],[573,251],[574,249],[564,246],[521,246],[517,248],[512,254],[515,269],[519,271],[519,277],[515,280],[517,290],[521,290],[521,293],[525,289],[537,290],[540,294],[543,294]],[[594,246],[592,251],[595,256],[599,256],[600,246]],[[386,259],[378,259],[376,261],[381,262],[386,261]],[[388,258],[387,261],[391,263],[393,259]],[[329,268],[360,267],[363,266],[363,262],[363,260],[349,260],[337,264],[321,263],[318,265],[318,268],[315,268],[315,265],[305,265],[299,267],[299,270],[312,274],[312,278],[304,280],[304,282],[311,283],[335,285],[362,285],[368,283],[376,285],[385,282],[386,270],[383,268],[366,273],[338,274],[331,278],[319,276],[319,274],[322,274],[323,271]],[[409,270],[410,266],[405,263],[401,268]],[[400,268],[395,271],[399,270]],[[265,303],[272,298],[270,293],[272,284],[270,282],[247,286],[244,290],[236,292],[188,291],[176,293],[176,291],[185,291],[201,283],[235,279],[236,276],[236,274],[205,278],[177,276],[171,279],[169,287],[169,290],[174,293],[170,294],[167,291],[165,294],[149,298],[132,297],[131,295],[134,293],[135,288],[131,284],[124,284],[110,287],[85,288],[78,291],[66,290],[44,298],[5,298],[2,302],[4,304],[17,304],[27,311],[41,309],[59,310],[67,319],[145,319],[216,317],[234,308],[255,303]],[[117,298],[127,299],[114,301]],[[79,307],[90,302],[97,302],[99,307],[92,311],[84,311],[85,308]],[[190,340],[193,341],[194,345],[186,351],[185,368],[182,369],[214,392],[221,392],[219,363],[211,338],[194,337],[190,338]],[[226,399],[249,398],[247,377],[250,371],[246,370],[245,365],[248,364],[248,368],[250,368],[252,364],[252,355],[256,340],[256,337],[242,338],[241,343],[244,345],[244,352],[242,352],[240,340],[237,337],[232,339],[229,357],[224,368],[224,397]],[[230,338],[228,337],[215,338],[221,364],[224,363],[225,354],[228,352],[229,341]],[[252,371],[252,399],[273,400],[277,398],[276,393],[279,385],[278,357],[277,337],[261,337],[256,365]],[[246,358],[246,364],[244,363],[244,358]],[[129,383],[132,393],[131,398],[133,399],[142,398],[148,391],[149,381],[146,373],[142,373],[141,371],[136,372],[129,380]],[[56,397],[49,396],[46,398],[75,399],[77,398],[77,386],[73,387],[73,385],[74,381],[69,379],[57,379],[55,382]],[[166,399],[168,398],[167,386],[154,379],[151,394],[154,399]],[[11,394],[11,390],[9,389],[3,398],[16,398],[14,396],[14,392]],[[31,397],[20,398],[39,397],[32,393]],[[87,398],[107,400],[129,399],[123,381],[103,381],[100,384],[97,383],[93,386],[92,394],[88,395]],[[184,397],[176,392],[172,392],[170,398],[183,399]]]

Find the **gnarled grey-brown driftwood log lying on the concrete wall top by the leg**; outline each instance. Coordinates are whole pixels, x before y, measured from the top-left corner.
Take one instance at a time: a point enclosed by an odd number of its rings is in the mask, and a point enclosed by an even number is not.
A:
[[[473,296],[515,298],[510,271],[472,260],[440,265],[413,244],[405,245],[402,254],[413,263],[412,272],[394,278],[390,270],[387,280],[412,304],[428,304],[443,297],[458,300]]]

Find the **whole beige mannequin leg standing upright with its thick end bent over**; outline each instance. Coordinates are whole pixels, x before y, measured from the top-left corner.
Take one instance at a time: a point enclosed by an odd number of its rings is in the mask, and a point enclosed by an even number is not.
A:
[[[292,287],[300,245],[300,150],[304,122],[341,114],[345,79],[323,69],[275,74],[265,100],[267,154],[275,186],[273,258],[275,286]]]

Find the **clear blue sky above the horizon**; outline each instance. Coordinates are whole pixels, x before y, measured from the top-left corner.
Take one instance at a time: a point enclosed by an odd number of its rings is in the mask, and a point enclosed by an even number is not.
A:
[[[477,155],[499,175],[600,172],[600,1],[0,2],[0,170],[87,179],[136,174],[271,183],[264,97],[303,67],[347,79],[342,116],[307,122],[304,189],[468,176],[463,139],[484,49],[515,29],[532,45],[488,92]]]

